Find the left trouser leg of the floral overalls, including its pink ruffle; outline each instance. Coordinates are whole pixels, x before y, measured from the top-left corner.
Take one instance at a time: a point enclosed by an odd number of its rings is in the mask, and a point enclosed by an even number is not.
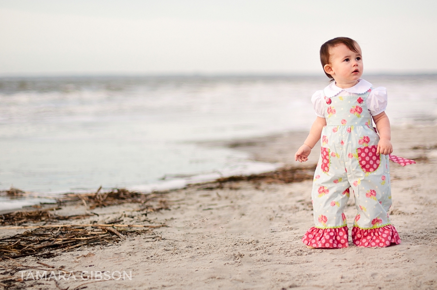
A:
[[[344,207],[349,199],[346,172],[315,172],[311,198],[316,227],[308,229],[302,242],[315,248],[344,248],[348,246],[348,228]],[[334,174],[339,173],[339,174]]]

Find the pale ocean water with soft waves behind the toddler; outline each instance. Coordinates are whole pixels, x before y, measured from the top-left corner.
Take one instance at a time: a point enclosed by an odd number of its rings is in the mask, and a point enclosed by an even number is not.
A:
[[[436,122],[437,75],[364,78],[387,87],[393,125]],[[198,142],[309,130],[311,95],[327,84],[322,76],[0,78],[0,189],[36,200],[272,170]],[[0,201],[0,210],[17,206]]]

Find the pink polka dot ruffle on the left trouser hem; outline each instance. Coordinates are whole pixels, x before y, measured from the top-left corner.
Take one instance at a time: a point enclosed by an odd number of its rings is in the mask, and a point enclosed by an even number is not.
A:
[[[348,227],[336,229],[313,227],[303,235],[302,242],[315,248],[345,248],[348,246]]]

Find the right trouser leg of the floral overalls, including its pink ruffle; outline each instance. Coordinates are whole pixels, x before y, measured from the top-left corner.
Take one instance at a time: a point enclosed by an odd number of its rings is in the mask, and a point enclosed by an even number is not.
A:
[[[400,244],[387,213],[392,204],[388,155],[381,155],[378,170],[351,182],[358,210],[352,229],[353,244],[364,247]]]

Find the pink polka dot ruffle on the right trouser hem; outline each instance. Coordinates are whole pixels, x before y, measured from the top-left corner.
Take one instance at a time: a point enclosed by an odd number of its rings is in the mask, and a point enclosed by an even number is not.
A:
[[[352,228],[353,244],[359,247],[387,247],[401,244],[401,238],[395,227],[387,225],[378,229]]]

